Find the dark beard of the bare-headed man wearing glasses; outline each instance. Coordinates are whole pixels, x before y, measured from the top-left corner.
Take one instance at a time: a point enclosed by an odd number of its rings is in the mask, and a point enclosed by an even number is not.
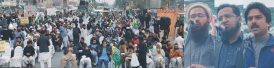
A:
[[[235,36],[238,30],[240,30],[239,22],[237,22],[236,27],[232,27],[229,30],[225,30],[224,32],[221,32],[221,41],[228,42],[229,38],[232,38],[232,36]]]

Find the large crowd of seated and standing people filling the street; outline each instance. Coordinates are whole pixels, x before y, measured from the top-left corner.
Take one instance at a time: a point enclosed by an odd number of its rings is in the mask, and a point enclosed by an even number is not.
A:
[[[40,62],[40,68],[44,68],[45,63],[51,67],[53,51],[64,52],[60,61],[62,68],[68,63],[74,68],[101,68],[103,63],[105,67],[109,67],[109,63],[112,63],[110,61],[113,61],[112,46],[121,53],[121,67],[131,66],[132,54],[137,54],[142,68],[163,68],[165,62],[166,65],[171,62],[171,67],[183,65],[184,25],[179,20],[175,25],[178,27],[177,37],[173,42],[168,40],[169,27],[166,24],[170,23],[162,23],[160,16],[150,16],[147,13],[138,13],[133,17],[138,22],[137,30],[134,30],[132,17],[123,14],[95,16],[69,12],[68,17],[57,17],[51,19],[53,21],[29,21],[29,25],[21,25],[17,14],[4,14],[0,18],[1,38],[13,47],[10,58],[14,57],[16,47],[21,47],[25,64],[23,67],[38,67],[34,65],[36,58]],[[32,18],[35,18],[34,15]],[[161,40],[160,25],[165,25],[166,32]],[[8,62],[0,65],[4,63]]]

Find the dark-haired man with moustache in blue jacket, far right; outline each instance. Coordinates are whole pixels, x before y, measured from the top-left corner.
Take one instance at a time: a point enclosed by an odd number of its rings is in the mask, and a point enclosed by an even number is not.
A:
[[[254,34],[245,46],[245,68],[274,68],[274,37],[269,33],[271,10],[263,3],[250,3],[245,19],[249,32]]]

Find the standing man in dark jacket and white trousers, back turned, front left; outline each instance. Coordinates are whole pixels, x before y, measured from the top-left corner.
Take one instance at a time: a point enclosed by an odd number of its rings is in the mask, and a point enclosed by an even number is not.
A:
[[[41,36],[37,39],[37,46],[39,46],[39,60],[41,68],[45,67],[47,62],[48,67],[51,67],[51,55],[49,53],[49,37],[45,36],[45,30],[40,32]]]

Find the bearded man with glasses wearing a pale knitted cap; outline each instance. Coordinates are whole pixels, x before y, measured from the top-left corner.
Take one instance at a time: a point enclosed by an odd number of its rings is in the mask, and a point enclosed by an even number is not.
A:
[[[209,34],[212,11],[206,3],[190,3],[186,8],[188,21],[196,21],[186,38],[184,67],[203,68],[214,66],[214,36]],[[191,37],[191,38],[190,38]]]

